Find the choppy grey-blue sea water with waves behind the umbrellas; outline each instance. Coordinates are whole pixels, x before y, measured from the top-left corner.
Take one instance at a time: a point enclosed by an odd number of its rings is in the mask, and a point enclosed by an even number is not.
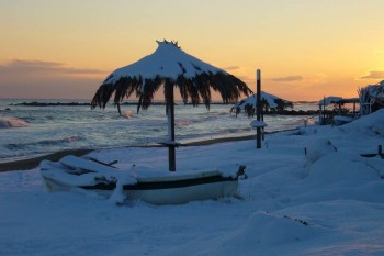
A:
[[[22,102],[89,103],[81,100],[0,100],[0,163],[65,149],[94,149],[153,145],[168,138],[165,105],[150,105],[137,113],[136,105],[113,104],[91,110],[89,105],[21,105]],[[256,118],[230,113],[231,105],[176,105],[176,141],[187,143],[256,134],[249,123]],[[316,104],[295,104],[294,110],[316,110]],[[295,129],[306,115],[266,115],[266,132]]]

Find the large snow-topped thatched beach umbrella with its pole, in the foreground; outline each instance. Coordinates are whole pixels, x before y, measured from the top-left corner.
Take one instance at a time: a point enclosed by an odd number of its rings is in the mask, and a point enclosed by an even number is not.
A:
[[[155,92],[163,88],[167,104],[169,141],[169,170],[176,170],[174,160],[174,99],[173,88],[179,88],[184,103],[193,105],[201,102],[208,109],[211,89],[219,92],[223,102],[236,102],[241,93],[248,96],[251,90],[235,76],[204,63],[182,49],[174,42],[158,42],[158,48],[150,55],[128,66],[114,70],[100,86],[91,102],[92,108],[105,108],[114,93],[115,104],[129,98],[138,97],[137,111],[147,109]]]

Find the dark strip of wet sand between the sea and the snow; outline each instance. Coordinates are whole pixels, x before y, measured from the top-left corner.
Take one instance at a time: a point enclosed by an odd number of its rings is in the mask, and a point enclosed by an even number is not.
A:
[[[223,142],[236,142],[236,141],[247,141],[255,138],[256,135],[248,135],[248,136],[239,136],[239,137],[223,137],[223,138],[212,138],[206,141],[200,141],[200,142],[191,142],[182,144],[182,146],[204,146],[204,145],[211,145],[215,143],[223,143]],[[133,146],[133,147],[160,147],[162,145],[140,145],[140,146]],[[11,171],[11,170],[29,170],[36,168],[39,163],[44,159],[48,160],[59,160],[66,155],[74,155],[74,156],[83,156],[92,152],[93,149],[68,149],[68,151],[61,151],[56,152],[49,155],[44,155],[39,157],[33,157],[29,159],[20,159],[20,160],[13,160],[8,163],[0,163],[0,172],[3,171]]]

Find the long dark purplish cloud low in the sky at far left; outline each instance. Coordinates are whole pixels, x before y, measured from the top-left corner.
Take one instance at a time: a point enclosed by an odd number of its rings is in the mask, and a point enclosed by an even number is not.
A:
[[[43,60],[13,59],[8,64],[0,65],[1,74],[39,74],[46,71],[76,75],[105,74],[105,71],[99,69],[70,68],[66,67],[64,63]]]

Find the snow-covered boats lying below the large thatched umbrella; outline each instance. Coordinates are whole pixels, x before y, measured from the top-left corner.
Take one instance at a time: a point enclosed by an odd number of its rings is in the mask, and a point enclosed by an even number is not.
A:
[[[158,205],[236,197],[238,178],[245,175],[245,166],[230,171],[159,172],[139,172],[135,168],[121,170],[76,156],[41,163],[48,191],[91,190],[116,203],[142,200]]]

